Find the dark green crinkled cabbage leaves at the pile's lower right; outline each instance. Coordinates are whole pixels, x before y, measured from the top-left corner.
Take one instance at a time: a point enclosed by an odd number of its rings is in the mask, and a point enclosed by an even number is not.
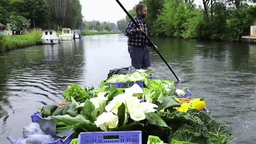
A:
[[[191,143],[224,144],[232,139],[232,127],[223,121],[213,119],[210,113],[196,109],[187,111],[195,121],[183,121],[175,127],[169,140],[175,139]]]

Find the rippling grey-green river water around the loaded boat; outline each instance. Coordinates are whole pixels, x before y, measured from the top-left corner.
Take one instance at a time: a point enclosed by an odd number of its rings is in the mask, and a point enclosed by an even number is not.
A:
[[[212,117],[232,126],[229,143],[256,143],[256,46],[152,38],[193,97],[206,100]],[[71,84],[97,87],[111,69],[130,66],[123,34],[84,36],[55,45],[32,46],[0,55],[0,142],[22,137],[37,107],[63,101]],[[151,50],[155,78],[176,81]]]

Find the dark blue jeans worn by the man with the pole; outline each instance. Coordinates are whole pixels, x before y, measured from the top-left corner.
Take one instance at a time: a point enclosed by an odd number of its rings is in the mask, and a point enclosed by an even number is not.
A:
[[[132,59],[132,66],[136,69],[151,66],[148,46],[128,46],[128,52]]]

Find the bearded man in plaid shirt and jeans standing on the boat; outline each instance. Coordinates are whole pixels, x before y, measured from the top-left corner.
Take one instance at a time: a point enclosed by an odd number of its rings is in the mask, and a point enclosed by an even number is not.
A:
[[[127,24],[124,35],[128,36],[128,52],[132,59],[132,66],[136,69],[148,69],[151,65],[148,46],[152,46],[146,37],[142,35],[142,31],[147,34],[148,28],[146,27],[145,18],[148,14],[146,5],[136,5],[136,16],[133,17],[135,22],[140,28],[136,28],[136,25],[132,20]],[[158,47],[156,50],[158,50]]]

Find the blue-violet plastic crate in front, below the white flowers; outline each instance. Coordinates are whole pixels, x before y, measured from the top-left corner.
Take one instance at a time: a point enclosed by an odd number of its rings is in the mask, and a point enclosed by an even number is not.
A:
[[[78,144],[85,143],[104,143],[104,144],[141,144],[141,131],[123,131],[123,132],[82,132],[78,136]]]

